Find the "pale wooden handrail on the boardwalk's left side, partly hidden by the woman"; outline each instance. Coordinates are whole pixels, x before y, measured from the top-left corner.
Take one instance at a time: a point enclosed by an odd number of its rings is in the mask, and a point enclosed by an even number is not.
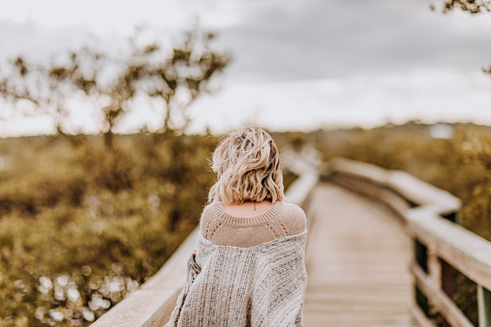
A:
[[[298,155],[288,153],[286,157],[283,165],[291,168],[299,177],[290,185],[285,198],[302,206],[308,201],[319,175],[312,164],[305,163]],[[91,327],[162,327],[170,317],[185,283],[187,262],[195,250],[198,233],[197,226],[154,276],[97,319]]]

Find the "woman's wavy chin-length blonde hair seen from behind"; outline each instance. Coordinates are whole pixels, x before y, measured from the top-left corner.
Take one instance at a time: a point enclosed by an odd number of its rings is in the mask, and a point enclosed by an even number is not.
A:
[[[284,197],[278,149],[271,135],[257,126],[244,126],[225,135],[213,153],[212,170],[218,181],[210,189],[210,202],[274,203]]]

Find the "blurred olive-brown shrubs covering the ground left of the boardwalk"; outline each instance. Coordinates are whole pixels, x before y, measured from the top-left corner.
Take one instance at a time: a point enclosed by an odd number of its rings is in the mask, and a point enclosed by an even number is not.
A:
[[[0,326],[88,326],[152,276],[197,224],[215,141],[0,140]]]

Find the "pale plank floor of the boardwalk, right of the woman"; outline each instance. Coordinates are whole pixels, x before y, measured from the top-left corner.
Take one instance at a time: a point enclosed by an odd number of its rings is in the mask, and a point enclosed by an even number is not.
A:
[[[305,327],[409,327],[411,242],[383,206],[328,183],[307,218]]]

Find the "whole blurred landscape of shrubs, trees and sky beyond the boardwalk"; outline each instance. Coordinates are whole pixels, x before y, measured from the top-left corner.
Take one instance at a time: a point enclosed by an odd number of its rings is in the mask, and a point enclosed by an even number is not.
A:
[[[243,124],[281,149],[408,171],[461,198],[462,224],[491,239],[486,11],[3,4],[0,326],[88,326],[152,276],[198,222],[218,135]],[[466,292],[456,301],[470,312]]]

